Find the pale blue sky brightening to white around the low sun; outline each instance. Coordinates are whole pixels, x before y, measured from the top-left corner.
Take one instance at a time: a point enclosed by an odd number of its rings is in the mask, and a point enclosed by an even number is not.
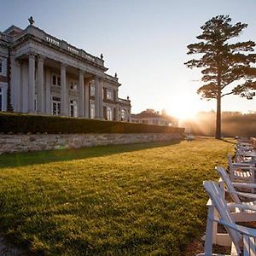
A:
[[[0,0],[0,31],[25,28],[31,15],[35,26],[92,55],[104,55],[111,75],[118,73],[119,96],[130,96],[131,112],[146,108],[189,118],[216,108],[201,100],[200,70],[183,65],[192,57],[187,45],[196,43],[201,26],[216,15],[248,26],[241,40],[256,41],[255,0]],[[223,98],[224,111],[256,111],[256,97]]]

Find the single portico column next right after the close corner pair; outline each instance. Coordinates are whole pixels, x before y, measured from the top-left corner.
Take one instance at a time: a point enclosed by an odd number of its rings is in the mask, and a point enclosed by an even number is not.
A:
[[[64,116],[68,115],[66,67],[61,64],[61,115]]]

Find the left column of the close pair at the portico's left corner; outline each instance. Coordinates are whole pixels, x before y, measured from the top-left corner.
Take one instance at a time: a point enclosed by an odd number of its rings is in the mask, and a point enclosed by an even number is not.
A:
[[[28,55],[28,112],[35,112],[35,54]]]

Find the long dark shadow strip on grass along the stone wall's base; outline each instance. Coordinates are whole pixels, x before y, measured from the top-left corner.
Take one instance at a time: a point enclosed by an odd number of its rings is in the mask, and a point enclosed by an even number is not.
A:
[[[148,148],[159,148],[174,145],[177,143],[180,143],[180,140],[160,143],[134,143],[123,145],[98,146],[93,148],[58,149],[16,154],[3,154],[0,155],[0,168],[30,166],[56,161],[81,160],[92,157],[107,156],[111,154],[132,152]]]

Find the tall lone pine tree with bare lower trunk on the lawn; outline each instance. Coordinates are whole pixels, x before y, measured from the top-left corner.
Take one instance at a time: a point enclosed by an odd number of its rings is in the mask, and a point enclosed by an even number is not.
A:
[[[218,15],[201,26],[202,33],[196,38],[197,44],[189,44],[188,55],[200,54],[200,59],[192,59],[184,63],[187,67],[201,68],[204,83],[197,93],[207,100],[217,100],[216,134],[221,138],[221,99],[227,95],[255,96],[251,90],[256,90],[256,62],[253,54],[253,41],[231,44],[230,39],[238,37],[247,24],[237,22],[230,24],[229,15]],[[232,43],[234,40],[232,40]]]

